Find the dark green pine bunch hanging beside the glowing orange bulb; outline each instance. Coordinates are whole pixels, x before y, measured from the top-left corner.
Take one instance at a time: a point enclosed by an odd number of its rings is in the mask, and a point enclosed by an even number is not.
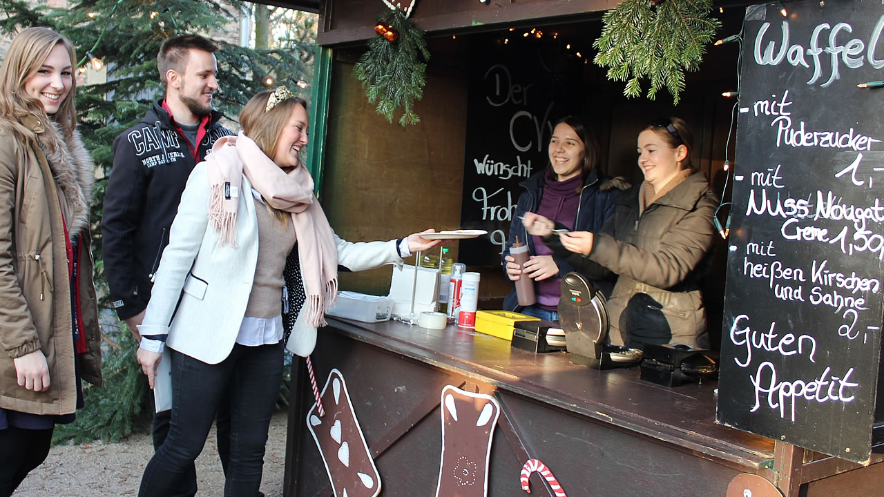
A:
[[[387,11],[377,18],[398,34],[393,42],[376,36],[369,42],[369,50],[354,65],[353,75],[362,82],[370,103],[377,103],[377,113],[392,123],[393,114],[401,107],[401,126],[420,122],[413,109],[415,100],[423,98],[426,84],[426,61],[430,50],[423,39],[423,31],[405,18],[398,9]],[[423,62],[419,57],[423,57]]]

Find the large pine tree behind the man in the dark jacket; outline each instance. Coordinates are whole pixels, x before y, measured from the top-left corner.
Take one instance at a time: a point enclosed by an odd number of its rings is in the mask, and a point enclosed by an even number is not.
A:
[[[108,80],[77,88],[78,129],[102,172],[96,183],[92,206],[95,285],[100,309],[110,310],[107,282],[103,276],[101,208],[104,187],[113,160],[114,138],[133,126],[149,110],[163,88],[156,70],[160,44],[178,34],[196,33],[215,38],[218,51],[218,84],[215,103],[228,119],[236,119],[249,97],[267,88],[264,80],[272,75],[275,84],[285,84],[296,94],[304,92],[299,81],[312,75],[310,40],[301,50],[273,48],[250,50],[213,34],[230,32],[240,13],[247,9],[239,0],[225,4],[213,0],[80,0],[67,9],[32,6],[27,1],[0,0],[0,31],[14,33],[23,27],[44,26],[65,34],[74,44],[78,57],[89,51],[103,60]],[[314,37],[315,39],[315,37]],[[302,51],[310,53],[303,57]],[[84,61],[76,61],[82,65]],[[107,311],[112,313],[111,311]],[[78,411],[78,421],[59,425],[55,441],[118,440],[132,432],[133,424],[149,420],[151,403],[146,377],[135,360],[137,344],[116,322],[103,327],[104,386],[85,386],[86,409]]]

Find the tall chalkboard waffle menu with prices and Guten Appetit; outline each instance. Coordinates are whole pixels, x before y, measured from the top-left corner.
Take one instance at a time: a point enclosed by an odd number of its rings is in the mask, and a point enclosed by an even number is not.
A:
[[[718,420],[868,463],[884,288],[880,0],[746,10]],[[872,84],[870,86],[876,86]]]

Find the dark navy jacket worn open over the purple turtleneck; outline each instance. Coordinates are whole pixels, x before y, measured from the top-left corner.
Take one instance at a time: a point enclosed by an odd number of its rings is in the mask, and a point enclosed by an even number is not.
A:
[[[534,248],[534,239],[531,237],[525,226],[522,226],[522,219],[525,212],[537,212],[540,206],[540,199],[544,195],[544,176],[546,169],[537,174],[533,174],[528,180],[522,181],[520,187],[526,191],[519,195],[519,201],[516,203],[515,215],[509,226],[509,236],[507,238],[507,247],[503,254],[500,255],[500,263],[503,265],[504,274],[507,273],[506,257],[509,255],[509,248],[515,243],[515,237],[519,240],[528,241],[528,249],[530,254],[536,254]],[[607,218],[613,215],[614,199],[621,195],[621,190],[629,187],[629,184],[620,178],[609,178],[604,174],[599,174],[598,169],[593,169],[583,181],[583,189],[580,192],[580,206],[574,216],[575,231],[591,231],[601,230]],[[552,246],[550,246],[552,248]],[[553,255],[552,259],[559,266],[559,274],[556,278],[561,278],[570,271],[574,271],[572,264],[561,256]],[[610,290],[610,285],[606,290]],[[515,288],[504,299],[504,310],[517,310],[519,307],[518,298],[515,295]]]

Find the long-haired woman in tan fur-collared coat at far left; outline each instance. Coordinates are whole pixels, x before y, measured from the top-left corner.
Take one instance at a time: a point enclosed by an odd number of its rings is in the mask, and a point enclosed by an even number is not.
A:
[[[73,46],[32,27],[0,69],[0,497],[49,454],[53,427],[101,383],[89,197],[74,131]]]

